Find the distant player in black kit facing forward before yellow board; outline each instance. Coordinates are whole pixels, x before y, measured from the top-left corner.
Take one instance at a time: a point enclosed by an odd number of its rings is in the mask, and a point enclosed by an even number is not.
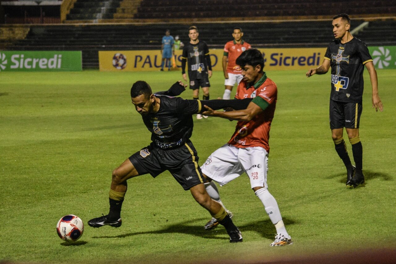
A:
[[[186,61],[188,59],[188,78],[190,79],[190,89],[192,98],[199,98],[199,87],[204,92],[203,99],[209,100],[209,78],[212,76],[212,66],[210,62],[209,48],[206,42],[198,40],[198,29],[191,26],[188,29],[190,42],[183,48],[181,59],[181,73],[183,79],[187,81]],[[206,115],[197,114],[197,119],[208,118]]]

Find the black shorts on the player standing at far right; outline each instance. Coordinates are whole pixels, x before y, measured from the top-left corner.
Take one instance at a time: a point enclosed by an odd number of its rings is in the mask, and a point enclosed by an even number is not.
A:
[[[330,128],[359,128],[361,103],[344,103],[330,100]]]

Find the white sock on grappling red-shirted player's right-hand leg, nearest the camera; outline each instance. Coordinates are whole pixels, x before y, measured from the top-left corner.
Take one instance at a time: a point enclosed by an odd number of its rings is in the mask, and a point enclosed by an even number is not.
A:
[[[282,221],[282,216],[280,215],[278,203],[276,203],[275,198],[270,194],[268,189],[258,189],[257,191],[255,191],[255,195],[259,197],[261,203],[263,203],[264,209],[267,212],[272,224],[275,225],[276,233],[283,234],[285,235],[285,237],[290,238]]]

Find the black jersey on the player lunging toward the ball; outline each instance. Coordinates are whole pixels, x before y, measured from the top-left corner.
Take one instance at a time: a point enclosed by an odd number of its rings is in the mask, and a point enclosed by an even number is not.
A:
[[[142,115],[152,133],[151,140],[162,149],[184,145],[192,135],[192,115],[200,111],[200,101],[156,95],[160,109],[155,114]]]

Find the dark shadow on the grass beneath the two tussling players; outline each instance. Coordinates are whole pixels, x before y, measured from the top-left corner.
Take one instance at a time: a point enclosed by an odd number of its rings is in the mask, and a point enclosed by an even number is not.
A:
[[[205,220],[207,220],[207,218],[197,218],[194,220],[188,220],[188,221],[180,222],[178,224],[169,225],[168,227],[162,230],[132,232],[132,233],[126,233],[126,234],[114,235],[114,236],[94,236],[92,238],[124,238],[124,237],[130,237],[134,235],[144,235],[144,234],[184,233],[187,235],[195,235],[197,237],[204,237],[208,239],[229,240],[227,231],[222,226],[217,227],[215,230],[204,230],[203,225]],[[188,224],[197,221],[202,223],[198,225]],[[293,220],[288,218],[283,218],[283,222],[285,223],[286,226],[295,223]],[[238,225],[238,228],[242,232],[242,236],[244,231],[254,231],[260,233],[262,237],[273,239],[276,233],[274,225],[269,219],[255,221],[245,225]]]

